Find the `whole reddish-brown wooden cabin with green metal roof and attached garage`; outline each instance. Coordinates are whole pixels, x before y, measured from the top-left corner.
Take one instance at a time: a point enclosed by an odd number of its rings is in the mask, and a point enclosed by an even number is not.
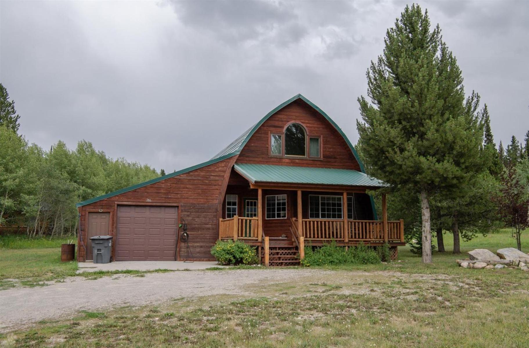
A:
[[[405,245],[403,221],[378,219],[351,142],[302,95],[288,99],[211,160],[77,204],[78,261],[89,238],[112,235],[112,258],[214,260],[217,240],[258,247],[266,265],[293,265],[303,246]]]

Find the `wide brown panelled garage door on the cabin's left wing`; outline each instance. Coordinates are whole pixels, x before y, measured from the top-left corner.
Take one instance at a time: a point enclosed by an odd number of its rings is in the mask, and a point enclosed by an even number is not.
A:
[[[116,261],[174,260],[178,208],[118,205]]]

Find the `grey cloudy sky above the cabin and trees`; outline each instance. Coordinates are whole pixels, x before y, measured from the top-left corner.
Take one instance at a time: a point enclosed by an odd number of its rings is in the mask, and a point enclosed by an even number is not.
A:
[[[419,2],[489,106],[529,130],[529,2]],[[21,132],[166,171],[211,158],[303,94],[358,140],[366,69],[406,2],[0,2],[0,81]]]

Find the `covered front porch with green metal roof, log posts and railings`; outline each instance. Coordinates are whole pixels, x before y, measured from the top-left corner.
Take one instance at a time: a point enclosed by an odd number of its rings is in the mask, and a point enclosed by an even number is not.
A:
[[[396,256],[396,247],[405,245],[404,223],[388,221],[385,195],[378,219],[366,194],[383,186],[353,170],[235,164],[218,238],[258,246],[267,265],[270,248],[281,249],[285,256],[296,251],[299,260],[304,246],[332,241],[343,246],[388,243]]]

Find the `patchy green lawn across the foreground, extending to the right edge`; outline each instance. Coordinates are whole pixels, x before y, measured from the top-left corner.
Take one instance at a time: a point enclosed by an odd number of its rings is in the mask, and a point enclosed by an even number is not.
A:
[[[504,230],[478,236],[462,242],[461,251],[513,246],[509,235]],[[529,240],[527,232],[524,236]],[[430,265],[404,247],[399,248],[401,262],[333,267],[296,281],[259,283],[245,288],[250,296],[177,298],[156,306],[81,312],[0,335],[0,344],[526,347],[529,273],[460,268],[454,260],[466,254],[453,255],[449,237],[449,252],[434,252]],[[523,246],[527,252],[527,242]]]

